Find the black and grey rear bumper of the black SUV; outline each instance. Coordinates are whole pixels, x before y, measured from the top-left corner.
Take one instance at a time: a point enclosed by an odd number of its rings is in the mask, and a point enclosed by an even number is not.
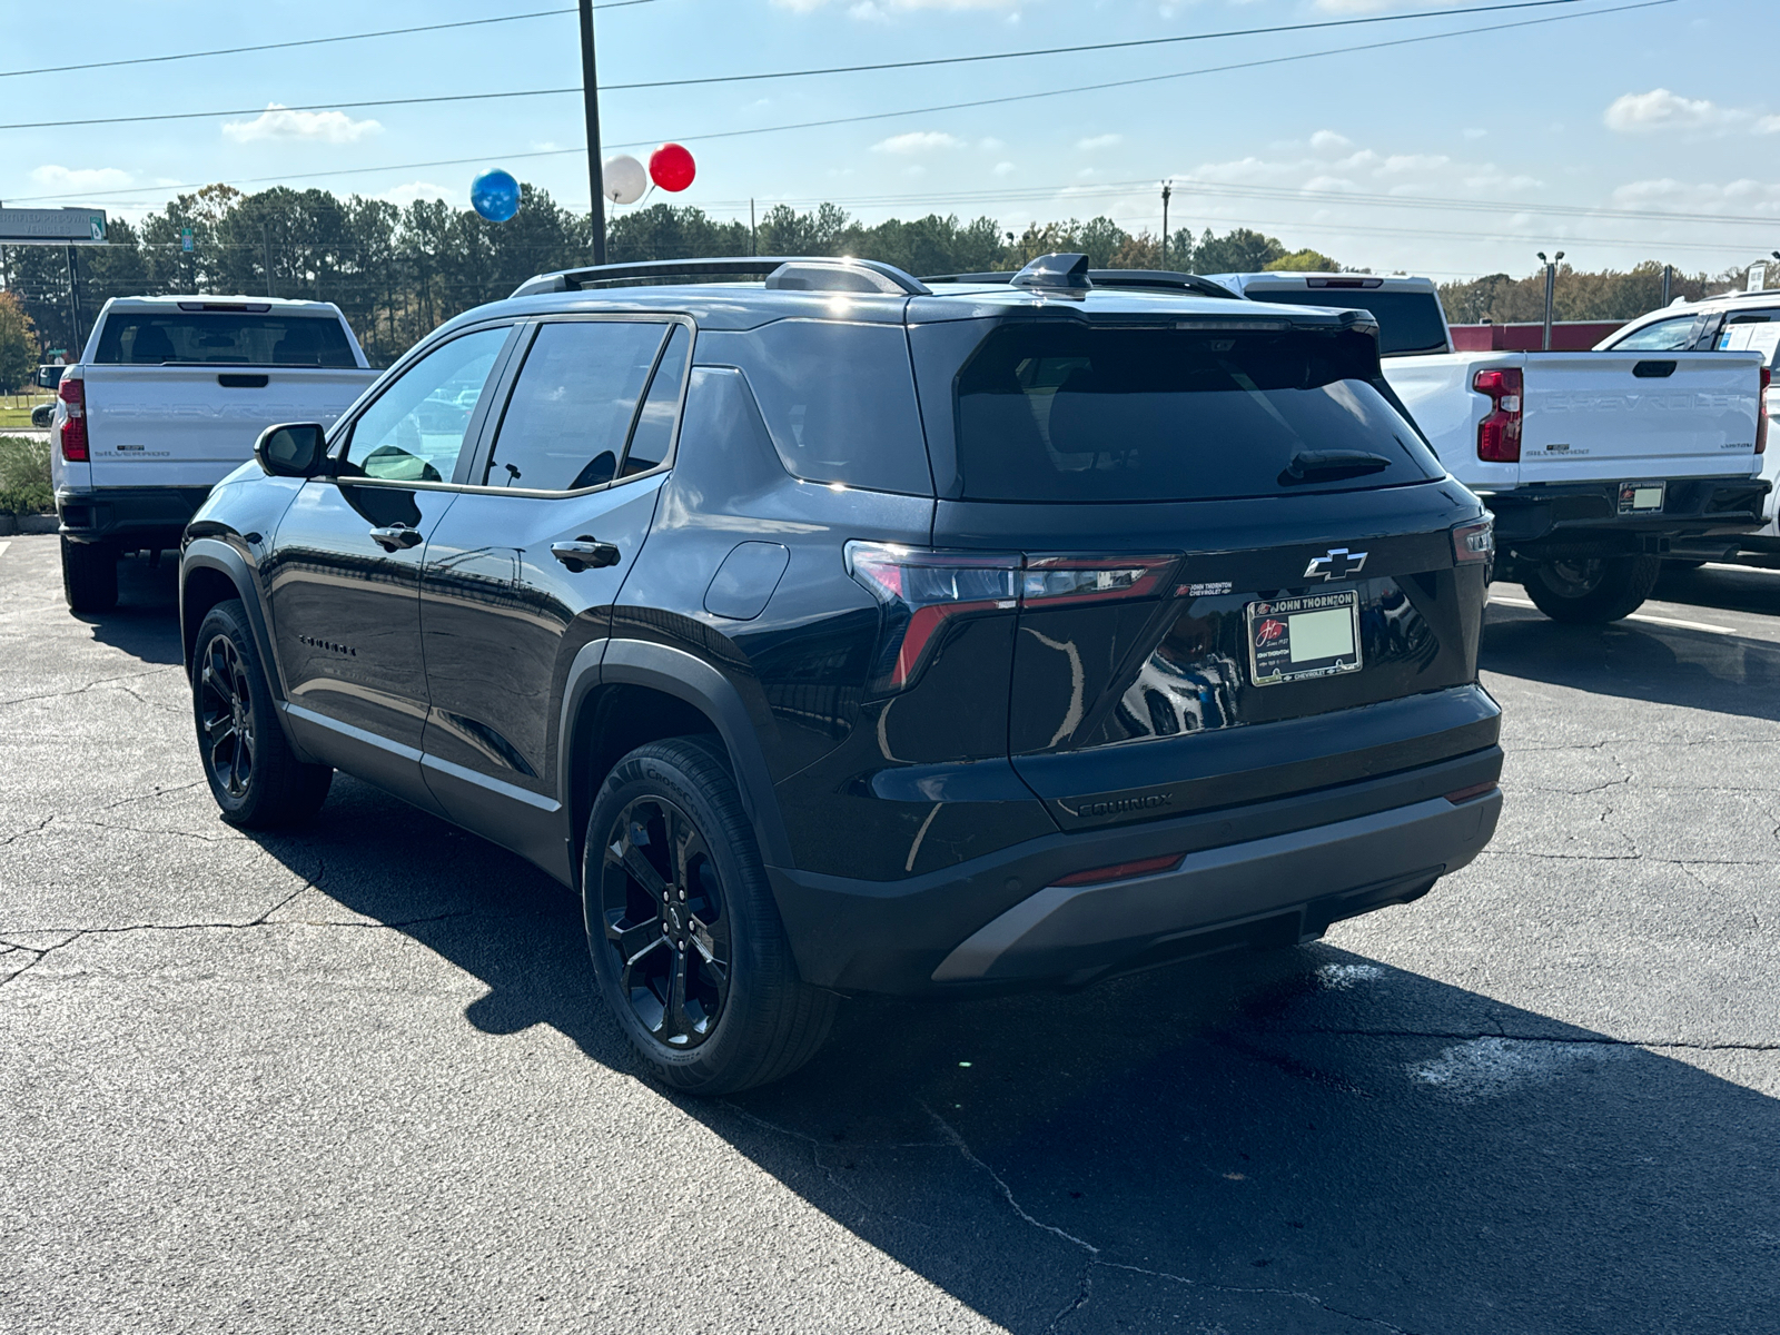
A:
[[[945,872],[856,881],[767,869],[797,967],[849,991],[1077,986],[1426,894],[1495,833],[1502,751],[1169,821],[1047,835]],[[1072,872],[1180,854],[1166,872],[1057,886]]]

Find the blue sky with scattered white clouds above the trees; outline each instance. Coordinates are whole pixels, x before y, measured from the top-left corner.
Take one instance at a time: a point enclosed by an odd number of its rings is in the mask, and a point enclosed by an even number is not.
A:
[[[1251,226],[1346,265],[1438,279],[1525,274],[1541,249],[1563,249],[1579,269],[1661,260],[1711,272],[1780,249],[1780,87],[1750,77],[1769,66],[1759,52],[1773,50],[1771,0],[1451,12],[1477,2],[605,0],[602,139],[607,155],[644,160],[664,141],[685,144],[696,182],[643,206],[666,199],[719,217],[746,219],[749,199],[762,212],[831,199],[867,222],[986,214],[1018,231],[1104,214],[1155,231],[1168,180],[1171,230]],[[5,75],[555,9],[570,12]],[[84,0],[78,12],[11,27],[41,41],[0,55],[0,125],[226,114],[0,130],[0,201],[135,219],[206,182],[281,182],[463,206],[470,180],[500,166],[586,210],[578,93],[283,110],[578,89],[571,11],[573,0]],[[1385,21],[616,87],[1344,20]],[[1125,80],[1148,82],[1027,96]],[[954,105],[995,98],[1018,100]],[[774,128],[838,117],[870,119]]]

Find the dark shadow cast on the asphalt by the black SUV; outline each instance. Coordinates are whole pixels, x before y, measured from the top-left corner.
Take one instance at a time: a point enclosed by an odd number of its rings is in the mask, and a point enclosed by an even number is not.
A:
[[[577,904],[527,863],[347,778],[312,831],[260,842],[481,979],[475,1029],[552,1025],[639,1072]],[[1015,1331],[1771,1328],[1780,1100],[1702,1070],[1771,1052],[1632,1038],[1677,1056],[1314,945],[854,1000],[778,1086],[659,1096]],[[846,1282],[769,1235],[758,1255],[773,1283]]]

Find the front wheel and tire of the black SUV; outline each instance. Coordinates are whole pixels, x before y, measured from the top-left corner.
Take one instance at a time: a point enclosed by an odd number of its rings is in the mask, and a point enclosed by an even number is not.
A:
[[[328,799],[333,769],[290,751],[240,598],[217,603],[198,627],[192,721],[210,796],[231,826],[299,824]]]

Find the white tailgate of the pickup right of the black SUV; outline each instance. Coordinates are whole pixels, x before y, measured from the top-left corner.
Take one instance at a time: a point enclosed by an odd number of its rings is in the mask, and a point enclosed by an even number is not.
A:
[[[1520,482],[1752,473],[1760,356],[1527,352]]]

